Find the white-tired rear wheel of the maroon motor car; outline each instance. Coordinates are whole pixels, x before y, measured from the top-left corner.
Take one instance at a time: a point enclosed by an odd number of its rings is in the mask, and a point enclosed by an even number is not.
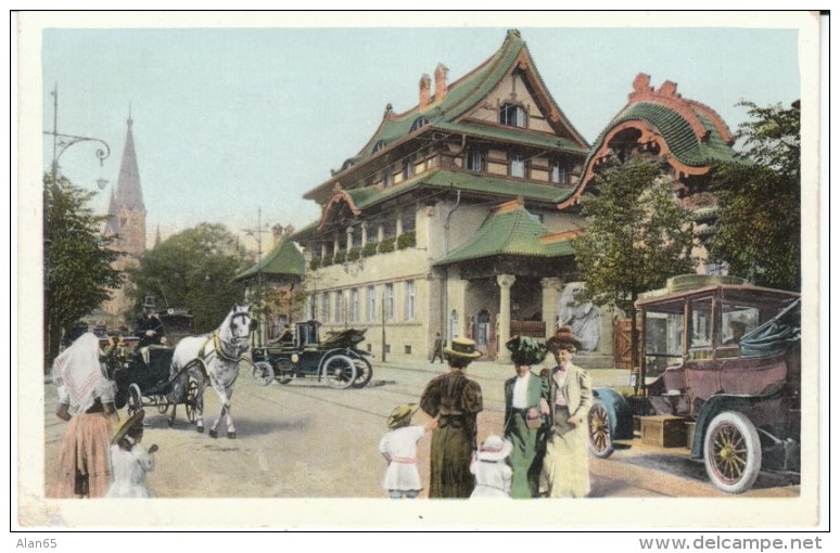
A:
[[[743,493],[761,471],[761,439],[747,415],[724,411],[709,425],[703,440],[705,472],[718,489]]]

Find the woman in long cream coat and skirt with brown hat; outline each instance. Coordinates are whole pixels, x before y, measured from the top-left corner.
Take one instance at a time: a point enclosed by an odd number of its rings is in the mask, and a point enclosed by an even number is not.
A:
[[[570,326],[561,326],[546,343],[557,366],[540,376],[549,383],[551,428],[539,475],[539,494],[548,498],[583,498],[589,493],[587,415],[593,402],[589,375],[572,363],[581,339]]]

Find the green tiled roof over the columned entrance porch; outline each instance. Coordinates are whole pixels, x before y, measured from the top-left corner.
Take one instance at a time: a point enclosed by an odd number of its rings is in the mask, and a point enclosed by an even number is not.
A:
[[[450,265],[494,256],[562,257],[574,254],[571,241],[544,243],[546,229],[521,205],[511,210],[493,211],[472,239],[435,266]]]

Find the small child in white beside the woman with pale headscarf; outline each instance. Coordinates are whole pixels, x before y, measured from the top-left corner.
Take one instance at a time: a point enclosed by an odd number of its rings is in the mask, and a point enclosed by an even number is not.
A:
[[[114,483],[107,491],[109,498],[151,498],[145,484],[145,473],[154,471],[154,452],[157,445],[149,450],[140,445],[143,439],[143,416],[141,409],[123,423],[111,440],[111,464]]]

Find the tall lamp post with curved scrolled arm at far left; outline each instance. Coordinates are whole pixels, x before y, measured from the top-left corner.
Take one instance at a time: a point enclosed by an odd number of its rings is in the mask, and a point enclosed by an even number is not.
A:
[[[52,137],[52,162],[50,163],[50,183],[53,192],[58,191],[58,178],[59,178],[59,159],[62,154],[67,151],[74,144],[79,142],[98,142],[101,147],[97,149],[96,156],[99,159],[99,165],[102,167],[103,162],[111,155],[111,146],[102,139],[92,137],[80,137],[77,134],[64,134],[59,132],[59,85],[55,83],[55,88],[50,93],[52,95],[52,130],[44,130],[43,133]],[[100,190],[107,181],[99,179],[97,183]],[[49,252],[50,252],[50,201],[49,190],[47,184],[43,188],[43,334],[44,334],[44,369],[50,365],[50,349],[52,346],[52,320],[49,314],[49,301],[50,301],[50,266],[49,266]]]

